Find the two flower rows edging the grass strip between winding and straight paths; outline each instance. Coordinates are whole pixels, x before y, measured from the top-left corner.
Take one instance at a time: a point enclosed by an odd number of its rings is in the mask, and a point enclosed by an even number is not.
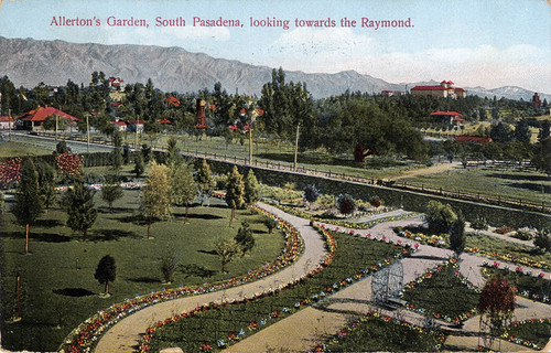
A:
[[[333,258],[334,258],[334,255],[335,255],[335,239],[333,238],[333,236],[331,235],[331,233],[327,231],[327,228],[325,227],[325,225],[320,225],[320,224],[313,224],[311,223],[312,226],[314,226],[324,237],[325,237],[325,242],[326,242],[326,245],[327,245],[327,248],[328,248],[328,254],[327,256],[325,257],[324,261],[315,269],[311,270],[310,272],[307,272],[306,275],[302,276],[301,278],[294,280],[293,282],[291,284],[288,284],[281,288],[278,288],[276,290],[269,290],[269,291],[266,291],[263,293],[260,293],[260,295],[256,295],[253,298],[245,298],[242,300],[237,300],[237,301],[231,301],[231,302],[224,302],[222,303],[223,306],[229,306],[229,304],[242,304],[242,303],[247,303],[249,302],[250,300],[257,300],[257,299],[260,299],[260,298],[266,298],[268,296],[272,296],[272,295],[278,295],[281,290],[287,290],[287,289],[290,289],[290,288],[293,288],[300,284],[303,284],[307,278],[311,278],[312,276],[314,276],[315,274],[322,271],[327,265],[329,265],[332,261],[333,261]],[[379,240],[379,242],[383,242],[383,239]],[[239,340],[244,339],[247,336],[247,332],[252,332],[252,331],[256,331],[258,330],[259,328],[263,327],[263,325],[267,325],[269,321],[273,320],[273,319],[277,319],[277,318],[283,318],[283,317],[287,317],[287,315],[291,315],[292,313],[301,310],[302,308],[306,307],[306,306],[310,306],[311,303],[314,303],[314,302],[317,302],[318,300],[323,299],[324,297],[328,296],[329,293],[334,292],[334,291],[338,291],[349,285],[352,285],[353,282],[361,279],[363,277],[371,274],[371,272],[375,272],[377,270],[379,270],[380,268],[385,267],[385,266],[388,266],[389,264],[391,264],[393,260],[398,259],[399,257],[402,257],[403,255],[409,255],[410,252],[412,250],[412,248],[409,246],[409,245],[402,245],[404,247],[404,249],[400,253],[397,253],[395,254],[393,256],[393,259],[391,258],[386,258],[383,261],[379,261],[377,265],[374,265],[371,268],[364,268],[363,270],[358,271],[354,277],[347,277],[338,282],[334,282],[332,286],[328,286],[326,287],[325,289],[323,289],[322,291],[320,291],[318,293],[314,293],[312,295],[310,298],[305,298],[303,300],[298,300],[294,302],[294,304],[289,308],[289,307],[283,307],[281,308],[280,310],[274,310],[273,312],[271,312],[269,315],[267,315],[266,318],[259,320],[258,322],[256,321],[251,321],[249,323],[249,325],[247,328],[241,328],[238,332],[235,332],[235,331],[231,331],[231,332],[228,332],[227,333],[227,338],[226,339],[219,339],[217,342],[216,342],[216,346],[218,349],[224,349],[224,347],[227,347],[236,342],[238,342]],[[206,310],[209,310],[209,309],[216,309],[218,308],[218,306],[220,306],[219,303],[210,303],[208,306],[204,306],[204,307],[201,307],[201,308],[195,308],[194,310],[192,310],[192,312],[190,313],[185,313],[183,312],[181,315],[179,315],[179,320],[180,319],[185,319],[190,315],[195,315],[197,314],[197,312],[201,312],[201,311],[206,311]],[[177,321],[177,320],[175,320]],[[140,346],[140,353],[149,353],[149,349],[150,349],[150,343],[151,343],[151,340],[153,338],[153,333],[166,325],[166,324],[170,324],[170,323],[173,323],[175,322],[174,320],[171,320],[170,318],[169,319],[165,319],[164,321],[159,321],[156,322],[155,325],[153,327],[150,327],[148,328],[148,330],[145,331],[145,334],[143,335],[142,338],[142,341],[140,342],[139,346]],[[201,352],[212,352],[214,350],[214,346],[215,344],[214,343],[210,343],[210,342],[203,342],[202,346],[201,346]]]

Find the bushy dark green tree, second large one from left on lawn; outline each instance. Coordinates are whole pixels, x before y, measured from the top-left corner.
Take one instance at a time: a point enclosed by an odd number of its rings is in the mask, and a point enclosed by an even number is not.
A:
[[[67,225],[73,231],[83,232],[88,236],[88,229],[97,218],[97,211],[94,205],[94,194],[82,178],[75,178],[73,189],[68,189],[64,195],[63,203],[67,212]]]

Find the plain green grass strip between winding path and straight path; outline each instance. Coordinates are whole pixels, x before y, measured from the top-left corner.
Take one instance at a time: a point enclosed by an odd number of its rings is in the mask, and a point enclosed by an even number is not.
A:
[[[401,252],[401,247],[393,244],[339,233],[332,234],[336,242],[334,259],[312,278],[273,296],[247,303],[230,304],[227,308],[210,309],[164,325],[154,332],[150,351],[158,352],[161,349],[180,346],[184,352],[198,352],[203,342],[209,342],[216,349],[217,340],[227,341],[229,332],[238,333],[242,329],[244,335],[248,335],[250,322],[259,323],[260,328],[262,320],[266,321],[266,325],[272,324],[285,317],[283,308],[292,312],[298,302],[303,300],[310,302],[327,288],[338,288],[336,284],[346,278],[354,278],[364,268],[371,268],[375,264],[386,258],[393,258],[396,253]],[[276,311],[279,312],[278,317],[273,315]],[[268,317],[270,319],[267,319]]]

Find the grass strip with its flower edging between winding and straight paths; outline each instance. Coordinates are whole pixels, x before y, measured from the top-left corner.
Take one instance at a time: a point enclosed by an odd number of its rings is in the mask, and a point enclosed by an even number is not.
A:
[[[224,349],[235,342],[246,338],[249,334],[255,333],[257,330],[271,324],[278,320],[281,320],[284,317],[288,317],[295,311],[309,306],[313,302],[316,302],[323,299],[325,296],[338,291],[344,287],[349,286],[356,280],[361,279],[368,274],[380,269],[383,266],[392,263],[396,258],[401,257],[404,254],[409,254],[409,249],[404,248],[399,253],[396,252],[393,245],[382,245],[378,249],[378,254],[385,254],[382,248],[387,248],[387,254],[391,254],[392,256],[388,256],[382,261],[378,261],[379,264],[375,264],[377,259],[372,258],[369,261],[374,263],[372,266],[365,267],[363,269],[353,269],[354,266],[345,266],[342,263],[347,261],[354,263],[357,259],[354,256],[349,256],[349,252],[346,254],[338,255],[338,263],[341,265],[334,265],[332,261],[335,257],[335,239],[332,234],[327,232],[323,227],[318,227],[318,231],[324,235],[329,254],[325,258],[322,265],[320,265],[316,269],[310,271],[305,276],[300,279],[276,290],[270,290],[263,293],[256,295],[253,298],[245,298],[239,301],[233,302],[224,302],[224,303],[210,303],[205,308],[196,308],[193,311],[193,317],[196,318],[197,322],[191,322],[179,320],[179,324],[176,327],[170,327],[165,323],[165,321],[160,321],[154,327],[148,329],[147,334],[144,335],[143,341],[141,342],[141,352],[150,352],[152,350],[152,345],[154,350],[162,349],[163,346],[159,346],[159,342],[166,340],[172,340],[173,343],[181,342],[184,344],[186,340],[185,332],[194,331],[196,334],[202,334],[201,328],[204,327],[205,322],[213,322],[217,320],[217,324],[223,325],[226,329],[226,333],[218,333],[218,339],[216,341],[205,340],[198,346],[196,345],[186,345],[185,351],[196,351],[203,350],[204,352],[215,351],[218,349]],[[336,235],[341,236],[341,235]],[[346,237],[349,239],[349,237]],[[352,248],[357,248],[357,242],[366,242],[364,238],[355,237],[355,245]],[[343,238],[345,240],[345,238]],[[383,242],[381,242],[383,243]],[[344,245],[343,245],[344,246]],[[374,254],[374,257],[376,255]],[[380,255],[379,255],[380,256]],[[333,266],[332,266],[333,265]],[[343,266],[343,267],[341,267]],[[343,268],[345,268],[345,272],[343,272]],[[322,270],[324,275],[322,275]],[[325,274],[328,271],[327,274]],[[342,276],[341,279],[336,279],[337,276]],[[218,310],[212,310],[218,309]],[[201,318],[197,315],[201,312]],[[191,318],[188,313],[184,313],[185,318]],[[231,318],[228,320],[223,320],[222,318]],[[198,323],[198,321],[203,321]],[[220,323],[222,321],[222,323]],[[170,322],[172,324],[173,322]],[[241,327],[239,327],[241,325]],[[165,330],[160,330],[163,328]],[[220,330],[218,327],[212,327],[212,330]],[[175,332],[181,332],[177,338],[174,336]],[[198,332],[198,333],[197,333]],[[151,334],[154,333],[156,338]],[[210,336],[213,333],[210,332]],[[222,336],[220,336],[222,335]],[[203,336],[203,335],[202,335]],[[155,340],[158,340],[155,342]],[[185,343],[187,344],[187,343]],[[181,345],[182,346],[182,345]],[[182,346],[184,349],[184,346]]]

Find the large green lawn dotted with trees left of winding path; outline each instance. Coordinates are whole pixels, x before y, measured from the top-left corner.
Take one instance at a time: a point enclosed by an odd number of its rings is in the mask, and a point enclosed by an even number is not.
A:
[[[229,225],[230,210],[212,200],[209,207],[194,206],[190,223],[184,223],[184,208],[175,210],[172,221],[155,222],[154,239],[147,239],[147,222],[137,217],[138,191],[126,191],[115,203],[115,213],[99,201],[99,215],[88,239],[75,234],[64,223],[66,215],[52,210],[31,227],[32,255],[24,255],[24,227],[14,223],[10,212],[0,227],[2,268],[2,314],[11,318],[15,310],[17,275],[22,276],[22,320],[3,327],[3,346],[11,350],[56,350],[63,339],[82,321],[111,303],[164,287],[160,260],[168,249],[175,249],[180,268],[173,286],[215,282],[259,268],[280,255],[281,233],[268,234],[263,216],[253,211],[238,211],[237,221]],[[214,245],[220,238],[234,237],[240,221],[247,220],[255,232],[256,245],[245,257],[220,272],[220,261]],[[104,286],[94,272],[104,255],[117,261],[117,279],[112,297],[98,297]]]

